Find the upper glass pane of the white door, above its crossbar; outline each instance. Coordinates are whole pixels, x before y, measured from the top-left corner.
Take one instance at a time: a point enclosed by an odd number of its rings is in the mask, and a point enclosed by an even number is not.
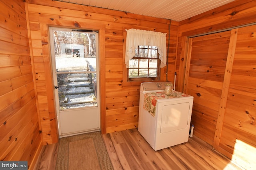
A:
[[[57,71],[86,71],[90,64],[96,69],[96,35],[86,32],[53,30]]]

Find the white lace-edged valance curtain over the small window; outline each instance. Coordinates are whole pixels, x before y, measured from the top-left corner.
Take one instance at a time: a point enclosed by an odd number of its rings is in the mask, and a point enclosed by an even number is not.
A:
[[[135,49],[139,45],[156,46],[161,60],[160,67],[166,66],[166,33],[137,29],[129,29],[126,32],[126,68],[129,67],[129,60],[135,56]]]

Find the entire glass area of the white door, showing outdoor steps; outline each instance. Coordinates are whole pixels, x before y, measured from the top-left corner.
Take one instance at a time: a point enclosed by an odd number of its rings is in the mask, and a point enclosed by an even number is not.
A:
[[[96,34],[52,30],[60,110],[97,106]]]

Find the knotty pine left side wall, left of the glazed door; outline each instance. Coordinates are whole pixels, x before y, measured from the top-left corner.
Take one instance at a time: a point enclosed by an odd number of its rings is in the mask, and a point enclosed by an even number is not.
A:
[[[0,0],[0,160],[33,166],[42,148],[23,0]]]

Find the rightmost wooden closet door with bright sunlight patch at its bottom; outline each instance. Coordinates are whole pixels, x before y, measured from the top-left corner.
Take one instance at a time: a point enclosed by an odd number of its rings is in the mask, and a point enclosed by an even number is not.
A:
[[[238,28],[236,34],[223,126],[215,148],[249,170],[256,167],[256,25]]]

